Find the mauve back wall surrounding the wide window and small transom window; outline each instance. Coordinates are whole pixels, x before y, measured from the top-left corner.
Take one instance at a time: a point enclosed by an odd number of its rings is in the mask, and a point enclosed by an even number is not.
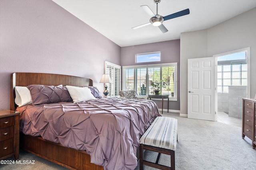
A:
[[[150,53],[161,51],[160,62],[135,63],[135,55],[139,53]],[[178,63],[177,68],[177,101],[169,102],[169,109],[180,110],[180,40],[162,41],[158,43],[134,45],[121,48],[121,65],[142,65],[142,64],[159,64],[159,63]],[[162,107],[162,102],[155,100],[158,107]],[[167,102],[164,102],[164,109],[167,109]]]

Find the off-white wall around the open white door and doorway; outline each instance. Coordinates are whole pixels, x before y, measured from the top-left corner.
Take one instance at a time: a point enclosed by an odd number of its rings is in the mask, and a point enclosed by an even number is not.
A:
[[[250,47],[250,96],[256,94],[256,8],[209,29],[181,33],[180,114],[188,113],[188,59],[212,57]]]

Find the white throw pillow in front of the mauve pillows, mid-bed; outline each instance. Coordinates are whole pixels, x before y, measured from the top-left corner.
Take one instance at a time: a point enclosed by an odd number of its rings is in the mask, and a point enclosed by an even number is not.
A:
[[[66,86],[74,103],[96,100],[88,87]]]

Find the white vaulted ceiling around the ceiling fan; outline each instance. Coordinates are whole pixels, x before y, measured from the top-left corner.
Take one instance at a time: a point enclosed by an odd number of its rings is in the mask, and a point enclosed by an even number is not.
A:
[[[147,25],[147,5],[156,14],[153,0],[52,0],[120,47],[180,39],[180,33],[207,29],[256,7],[256,0],[161,0],[158,14],[167,16],[189,8],[190,14],[164,21],[169,30]]]

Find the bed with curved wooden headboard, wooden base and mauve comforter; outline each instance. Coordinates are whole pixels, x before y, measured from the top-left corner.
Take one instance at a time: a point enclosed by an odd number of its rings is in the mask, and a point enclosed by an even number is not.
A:
[[[73,101],[61,101],[18,107],[14,102],[16,97],[14,88],[30,87],[29,85],[34,84],[54,87],[58,85],[93,87],[91,79],[77,76],[22,72],[11,74],[10,109],[21,112],[21,131],[24,133],[25,125],[29,124],[24,121],[25,117],[30,117],[27,122],[33,120],[36,123],[44,119],[43,123],[39,123],[40,128],[47,127],[44,131],[41,128],[36,131],[29,130],[25,132],[26,135],[21,133],[22,149],[70,169],[114,170],[136,167],[139,138],[154,119],[161,116],[154,102],[138,99],[96,98],[76,104]],[[71,93],[70,96],[72,96]],[[30,108],[36,108],[37,112],[33,112]],[[57,118],[51,118],[53,115],[57,115]],[[85,123],[81,124],[81,122]],[[65,129],[65,124],[70,124],[72,127]],[[74,124],[79,125],[73,126]],[[103,126],[105,124],[107,127]],[[57,128],[54,129],[53,126]],[[36,128],[34,126],[32,129]],[[60,132],[56,132],[56,129],[60,129]],[[78,132],[73,132],[74,129],[78,129]]]

